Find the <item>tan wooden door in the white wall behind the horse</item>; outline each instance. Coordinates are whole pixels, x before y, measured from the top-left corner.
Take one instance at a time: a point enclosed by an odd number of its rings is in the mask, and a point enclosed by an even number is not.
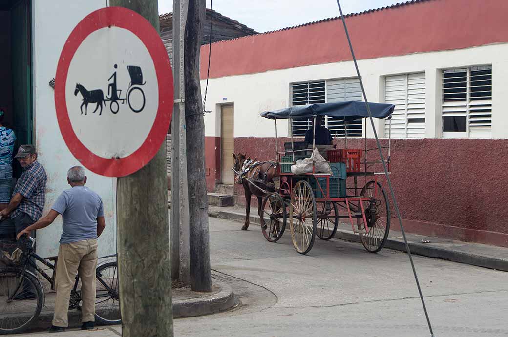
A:
[[[230,170],[234,164],[232,153],[235,152],[233,106],[223,106],[220,110],[220,181],[222,184],[233,185],[235,178]]]

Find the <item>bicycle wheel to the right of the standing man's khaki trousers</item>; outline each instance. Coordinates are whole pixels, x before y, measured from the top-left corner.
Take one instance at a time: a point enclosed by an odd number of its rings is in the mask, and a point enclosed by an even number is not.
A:
[[[97,268],[96,322],[120,324],[118,263],[109,262]]]

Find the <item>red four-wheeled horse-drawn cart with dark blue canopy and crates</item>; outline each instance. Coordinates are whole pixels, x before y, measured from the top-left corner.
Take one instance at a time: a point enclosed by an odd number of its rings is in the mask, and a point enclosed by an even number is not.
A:
[[[377,118],[387,118],[394,110],[394,106],[388,104],[370,103],[369,107],[373,117]],[[362,102],[312,104],[267,111],[261,115],[275,121],[275,130],[278,119],[312,118],[315,122],[316,117],[330,116],[343,120],[345,131],[348,121],[368,117]],[[330,146],[323,153],[328,158],[331,173],[317,172],[314,160],[311,172],[292,173],[291,166],[298,159],[308,157],[309,152],[314,153],[315,128],[313,144],[308,148],[295,148],[301,143],[295,143],[291,138],[291,149],[277,150],[280,187],[264,196],[260,212],[262,231],[268,241],[278,241],[289,221],[295,249],[306,254],[311,250],[316,234],[322,240],[330,240],[342,219],[351,223],[369,252],[375,253],[383,248],[390,230],[390,203],[383,188],[384,173],[374,170],[380,161],[367,159],[370,157],[368,153],[377,148],[368,149],[365,138],[364,149],[348,149],[347,132],[344,131],[341,132],[345,137],[344,148]],[[275,133],[277,137],[277,131]],[[390,141],[386,149],[390,164]]]

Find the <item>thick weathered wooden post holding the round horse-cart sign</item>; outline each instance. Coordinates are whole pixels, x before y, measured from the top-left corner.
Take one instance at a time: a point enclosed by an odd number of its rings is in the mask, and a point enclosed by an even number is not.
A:
[[[157,31],[157,0],[110,0]],[[118,273],[122,336],[173,336],[166,142],[141,170],[117,182]]]

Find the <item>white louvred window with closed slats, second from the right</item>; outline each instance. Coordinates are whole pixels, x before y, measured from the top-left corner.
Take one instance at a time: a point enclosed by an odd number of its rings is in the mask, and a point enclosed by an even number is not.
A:
[[[385,137],[425,137],[425,73],[385,77],[385,102],[395,105]]]

